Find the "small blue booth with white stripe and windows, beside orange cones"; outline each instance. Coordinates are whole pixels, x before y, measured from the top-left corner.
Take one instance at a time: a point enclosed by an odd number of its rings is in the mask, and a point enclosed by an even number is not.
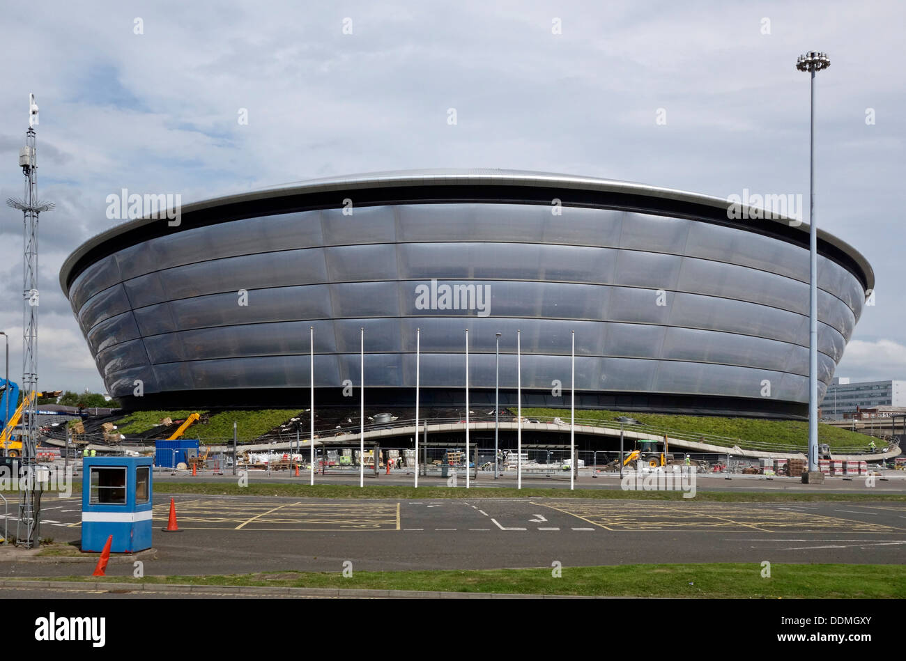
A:
[[[152,459],[90,456],[82,472],[82,551],[130,553],[151,548]]]

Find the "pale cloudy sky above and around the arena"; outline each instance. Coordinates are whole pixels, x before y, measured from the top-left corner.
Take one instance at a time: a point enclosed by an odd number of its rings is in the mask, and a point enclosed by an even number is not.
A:
[[[818,76],[818,225],[877,276],[836,373],[906,378],[901,3],[66,0],[4,3],[0,18],[0,198],[23,194],[34,91],[40,196],[57,204],[40,231],[43,388],[103,389],[57,276],[115,222],[105,199],[123,187],[188,203],[374,170],[516,168],[807,205],[795,59],[812,49],[832,60]],[[18,380],[21,214],[0,219]]]

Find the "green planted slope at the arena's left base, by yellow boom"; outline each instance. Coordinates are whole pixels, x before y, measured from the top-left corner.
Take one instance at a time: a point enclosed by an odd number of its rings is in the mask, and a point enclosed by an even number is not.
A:
[[[198,411],[203,413],[204,411]],[[136,411],[122,418],[118,425],[120,434],[144,434],[159,422],[169,417],[180,420],[193,411]],[[266,408],[259,410],[222,411],[208,418],[207,424],[190,426],[184,438],[198,438],[202,443],[223,443],[233,437],[233,421],[236,421],[236,435],[241,440],[252,440],[266,434],[275,426],[284,424],[299,413],[296,408]]]

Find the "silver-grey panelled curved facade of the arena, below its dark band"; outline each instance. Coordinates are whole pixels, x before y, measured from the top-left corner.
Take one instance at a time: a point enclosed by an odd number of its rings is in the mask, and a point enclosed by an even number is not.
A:
[[[425,309],[431,279],[471,310]],[[246,218],[160,236],[83,271],[71,301],[114,397],[145,391],[410,388],[421,329],[426,388],[523,386],[807,401],[807,251],[687,218],[522,204],[419,204]],[[864,292],[819,256],[819,379],[830,381]],[[419,289],[421,288],[421,289]],[[471,288],[471,289],[468,289]],[[239,304],[246,290],[248,304]],[[487,292],[487,299],[480,295]],[[476,295],[478,299],[474,298]],[[477,305],[484,303],[484,308]]]

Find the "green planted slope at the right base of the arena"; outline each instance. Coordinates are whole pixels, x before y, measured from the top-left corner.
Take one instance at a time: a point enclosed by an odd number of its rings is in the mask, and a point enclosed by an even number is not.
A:
[[[569,410],[562,408],[523,408],[525,417],[556,416],[569,421]],[[753,417],[670,416],[660,413],[624,413],[621,411],[577,410],[576,418],[613,421],[626,416],[642,425],[660,426],[686,434],[714,434],[742,439],[748,443],[775,443],[805,448],[808,442],[808,423],[798,420],[764,420]],[[618,423],[619,424],[619,423]],[[708,439],[703,439],[706,443]],[[818,442],[834,447],[867,448],[871,437],[830,425],[818,425]],[[880,445],[880,442],[876,441]]]

